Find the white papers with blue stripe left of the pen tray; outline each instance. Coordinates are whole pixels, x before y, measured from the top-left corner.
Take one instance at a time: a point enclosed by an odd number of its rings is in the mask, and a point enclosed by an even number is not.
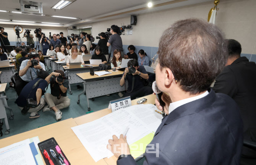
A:
[[[39,138],[32,137],[0,149],[0,165],[43,165],[37,144]]]

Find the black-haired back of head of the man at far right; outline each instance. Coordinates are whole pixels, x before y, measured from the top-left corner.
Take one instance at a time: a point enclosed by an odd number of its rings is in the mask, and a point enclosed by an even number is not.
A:
[[[239,58],[242,52],[241,44],[234,39],[227,39],[227,47],[228,47],[228,57],[229,58]]]

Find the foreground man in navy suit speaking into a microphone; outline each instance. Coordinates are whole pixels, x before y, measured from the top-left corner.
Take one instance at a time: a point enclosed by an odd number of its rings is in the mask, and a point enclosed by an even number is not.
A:
[[[147,146],[144,165],[238,165],[243,143],[239,108],[210,89],[227,61],[220,29],[199,19],[174,23],[159,42],[156,82],[165,92],[166,116]],[[167,99],[166,99],[167,98]],[[122,145],[121,145],[122,144]],[[121,146],[121,147],[120,147]],[[107,148],[117,165],[135,165],[126,137],[113,135]]]

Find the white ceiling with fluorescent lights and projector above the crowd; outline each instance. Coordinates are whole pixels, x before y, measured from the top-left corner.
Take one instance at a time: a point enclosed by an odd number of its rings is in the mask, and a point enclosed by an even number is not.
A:
[[[36,16],[36,15],[24,15],[18,13],[4,13],[0,12],[0,19],[13,19],[19,21],[34,21],[34,22],[50,22],[60,23],[64,26],[78,25],[81,23],[100,21],[103,16],[109,16],[116,14],[115,17],[122,17],[127,15],[138,15],[141,13],[147,13],[158,10],[165,10],[168,8],[175,8],[186,5],[193,5],[196,3],[204,3],[213,0],[174,0],[174,4],[159,6],[155,8],[146,8],[146,10],[134,11],[147,6],[148,2],[152,2],[157,5],[160,3],[171,2],[173,0],[76,0],[70,5],[66,6],[62,10],[54,10],[51,7],[55,5],[59,0],[31,0],[33,2],[42,2],[44,15],[57,15],[68,16],[80,19],[66,19],[66,18],[54,18],[49,16]],[[212,3],[212,7],[214,4]],[[19,0],[1,0],[0,10],[15,11],[16,8],[20,9]],[[123,13],[126,12],[126,13]],[[111,19],[112,17],[108,17]],[[114,18],[114,17],[113,17]],[[106,19],[106,18],[104,18]],[[3,22],[1,22],[3,23]],[[10,22],[9,22],[10,23]]]

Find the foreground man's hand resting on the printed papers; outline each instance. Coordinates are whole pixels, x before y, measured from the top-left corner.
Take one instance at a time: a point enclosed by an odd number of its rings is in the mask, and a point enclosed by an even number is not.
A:
[[[120,135],[120,139],[113,135],[113,139],[109,139],[107,149],[109,149],[117,158],[122,154],[130,155],[130,148],[126,141],[126,136],[123,137],[123,134]]]

